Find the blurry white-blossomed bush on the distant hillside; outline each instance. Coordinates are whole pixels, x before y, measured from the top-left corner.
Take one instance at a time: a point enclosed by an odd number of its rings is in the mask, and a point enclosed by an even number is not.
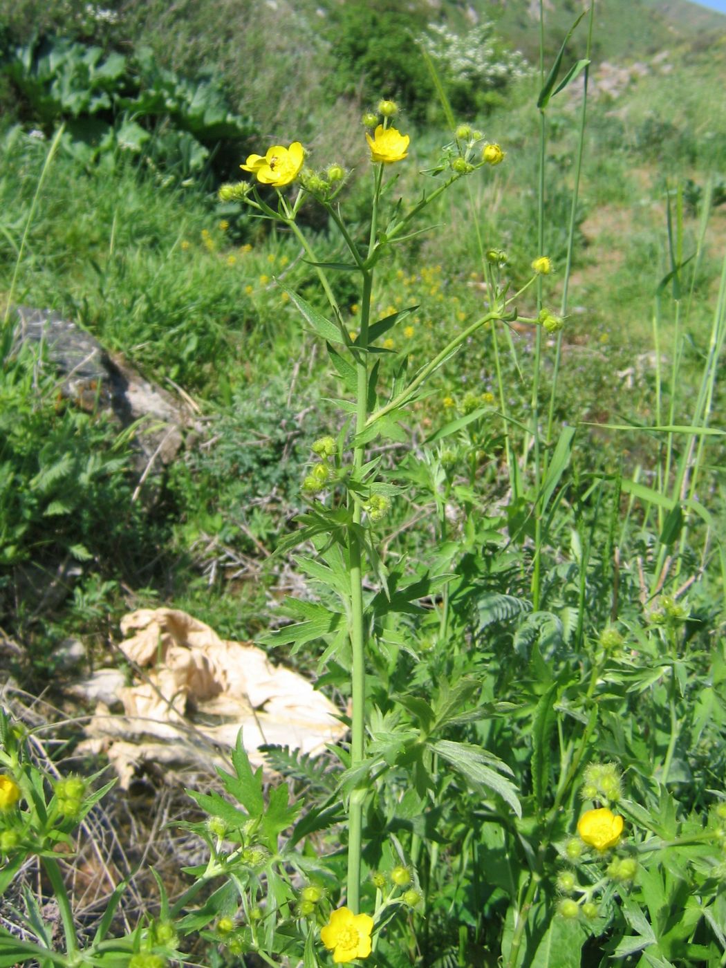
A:
[[[450,81],[498,88],[529,74],[527,60],[519,50],[505,49],[492,20],[482,20],[466,37],[437,23],[430,23],[427,29],[420,42]]]

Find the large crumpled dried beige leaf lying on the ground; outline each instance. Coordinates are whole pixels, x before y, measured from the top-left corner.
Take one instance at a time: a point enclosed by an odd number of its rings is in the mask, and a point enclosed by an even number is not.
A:
[[[317,753],[340,740],[340,711],[297,673],[273,666],[255,646],[230,642],[185,612],[141,609],[121,621],[121,650],[144,679],[120,687],[123,713],[100,705],[87,734],[105,749],[127,787],[142,763],[198,770],[224,762],[242,730],[254,764],[258,747],[289,746]]]

